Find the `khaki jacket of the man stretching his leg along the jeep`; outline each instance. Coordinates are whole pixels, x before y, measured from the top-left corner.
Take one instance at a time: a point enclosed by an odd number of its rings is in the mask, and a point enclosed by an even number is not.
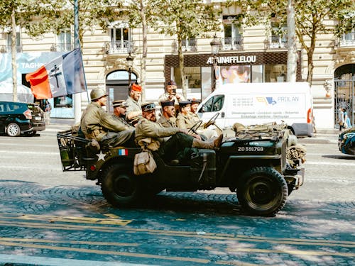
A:
[[[163,143],[165,137],[170,137],[180,132],[179,128],[165,128],[160,123],[149,121],[146,118],[141,120],[136,125],[136,143],[143,138],[152,138],[159,143]]]

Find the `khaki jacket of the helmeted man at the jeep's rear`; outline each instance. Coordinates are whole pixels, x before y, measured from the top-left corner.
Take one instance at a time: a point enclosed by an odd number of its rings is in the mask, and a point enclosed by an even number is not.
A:
[[[85,138],[95,140],[101,140],[107,135],[107,131],[119,132],[129,129],[128,126],[114,120],[96,101],[92,101],[82,113],[80,126]]]

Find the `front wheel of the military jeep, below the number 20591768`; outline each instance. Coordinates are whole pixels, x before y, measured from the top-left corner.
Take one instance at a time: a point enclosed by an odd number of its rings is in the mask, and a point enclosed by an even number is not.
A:
[[[274,216],[285,206],[288,185],[272,167],[254,167],[242,174],[236,196],[249,214]]]

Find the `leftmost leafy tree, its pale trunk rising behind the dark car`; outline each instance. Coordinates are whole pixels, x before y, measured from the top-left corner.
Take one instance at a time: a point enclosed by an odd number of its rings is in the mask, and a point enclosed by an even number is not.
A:
[[[43,23],[50,0],[3,0],[0,1],[0,30],[11,33],[11,67],[13,101],[17,99],[16,28],[25,29],[31,37],[38,37],[48,31]]]

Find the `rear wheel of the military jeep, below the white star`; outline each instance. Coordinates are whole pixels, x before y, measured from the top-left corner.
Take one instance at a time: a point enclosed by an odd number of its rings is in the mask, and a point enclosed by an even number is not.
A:
[[[129,167],[110,165],[102,175],[101,190],[114,206],[131,206],[140,195],[138,182]]]

